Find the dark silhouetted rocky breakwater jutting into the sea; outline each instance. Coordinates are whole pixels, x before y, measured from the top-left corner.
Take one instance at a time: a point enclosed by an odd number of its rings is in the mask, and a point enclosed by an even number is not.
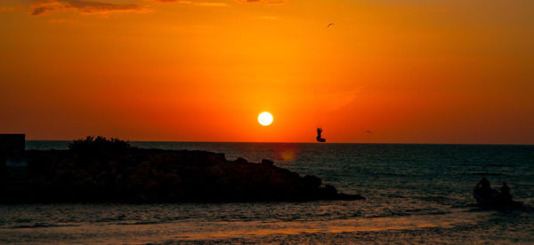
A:
[[[107,140],[107,139],[106,139]],[[77,141],[75,141],[76,143]],[[78,140],[84,142],[84,140]],[[95,144],[94,138],[85,142]],[[103,141],[107,142],[107,141]],[[89,144],[90,145],[90,144]],[[6,175],[2,202],[303,202],[359,200],[269,160],[259,163],[202,151],[71,145],[27,151],[28,175]],[[24,181],[22,181],[24,182]],[[19,183],[19,184],[17,184]]]

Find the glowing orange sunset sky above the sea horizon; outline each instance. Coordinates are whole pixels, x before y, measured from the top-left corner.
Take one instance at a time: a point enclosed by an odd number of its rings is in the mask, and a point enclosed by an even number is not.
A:
[[[0,132],[312,142],[319,120],[328,142],[534,144],[532,16],[532,0],[3,0]]]

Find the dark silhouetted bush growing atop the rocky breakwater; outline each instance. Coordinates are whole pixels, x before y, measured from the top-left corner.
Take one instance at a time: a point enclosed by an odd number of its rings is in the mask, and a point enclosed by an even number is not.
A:
[[[118,138],[105,138],[103,136],[97,136],[96,138],[87,136],[69,143],[71,151],[82,152],[122,151],[133,147],[128,141]]]

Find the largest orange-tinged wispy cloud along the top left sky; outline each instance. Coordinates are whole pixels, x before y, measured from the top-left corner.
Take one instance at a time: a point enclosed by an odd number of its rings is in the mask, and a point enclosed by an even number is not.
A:
[[[46,12],[77,11],[84,14],[107,14],[111,12],[150,12],[142,4],[111,4],[83,0],[34,0],[31,15]]]

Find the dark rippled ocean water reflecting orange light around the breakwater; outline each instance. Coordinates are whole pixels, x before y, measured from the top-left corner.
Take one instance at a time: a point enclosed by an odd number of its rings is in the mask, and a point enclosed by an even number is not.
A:
[[[367,200],[0,205],[0,243],[534,243],[534,146],[132,143],[271,159]],[[474,206],[482,175],[524,207]]]

